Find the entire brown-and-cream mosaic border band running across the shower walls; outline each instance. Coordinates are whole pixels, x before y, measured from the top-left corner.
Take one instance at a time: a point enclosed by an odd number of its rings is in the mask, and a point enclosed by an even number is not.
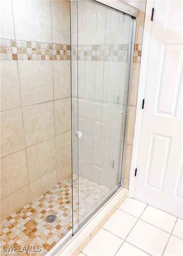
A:
[[[141,60],[142,44],[134,45],[133,62]],[[79,45],[0,39],[1,60],[88,60],[128,62],[129,44]]]

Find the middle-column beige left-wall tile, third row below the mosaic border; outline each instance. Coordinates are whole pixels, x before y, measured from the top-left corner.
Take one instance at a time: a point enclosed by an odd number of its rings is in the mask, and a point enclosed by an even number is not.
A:
[[[29,182],[56,168],[55,138],[26,148]]]

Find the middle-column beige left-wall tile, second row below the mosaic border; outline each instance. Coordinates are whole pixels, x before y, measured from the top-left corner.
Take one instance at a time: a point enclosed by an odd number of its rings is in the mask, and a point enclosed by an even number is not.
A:
[[[54,103],[23,107],[26,147],[55,136]]]

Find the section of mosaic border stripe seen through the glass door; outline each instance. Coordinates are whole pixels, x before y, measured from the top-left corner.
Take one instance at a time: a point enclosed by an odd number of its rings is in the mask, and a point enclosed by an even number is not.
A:
[[[73,46],[72,60],[123,61],[128,62],[128,44]]]

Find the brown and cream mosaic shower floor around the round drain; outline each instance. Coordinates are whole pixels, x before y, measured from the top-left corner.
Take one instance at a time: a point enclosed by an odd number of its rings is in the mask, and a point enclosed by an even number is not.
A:
[[[78,177],[74,175],[74,226],[78,224],[78,218],[81,221],[111,191],[80,176],[78,204],[77,188]],[[46,222],[49,214],[57,215],[55,222]],[[72,177],[69,176],[1,221],[1,252],[2,246],[19,246],[20,250],[23,246],[41,246],[41,252],[24,251],[18,252],[18,255],[45,255],[71,229]]]

